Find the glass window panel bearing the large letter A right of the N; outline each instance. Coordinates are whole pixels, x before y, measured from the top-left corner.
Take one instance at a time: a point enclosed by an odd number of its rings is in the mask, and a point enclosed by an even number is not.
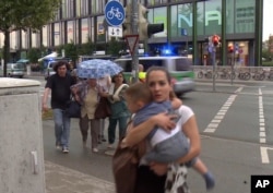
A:
[[[205,1],[205,11],[204,11],[204,34],[221,35],[222,31],[222,1],[219,0],[210,0]]]

